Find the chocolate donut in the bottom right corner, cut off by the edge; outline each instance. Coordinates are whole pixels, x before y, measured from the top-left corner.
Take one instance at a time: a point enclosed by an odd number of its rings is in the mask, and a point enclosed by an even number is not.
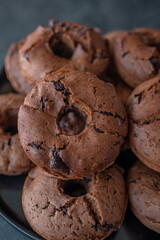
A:
[[[130,205],[136,217],[160,233],[160,174],[137,161],[127,177]]]

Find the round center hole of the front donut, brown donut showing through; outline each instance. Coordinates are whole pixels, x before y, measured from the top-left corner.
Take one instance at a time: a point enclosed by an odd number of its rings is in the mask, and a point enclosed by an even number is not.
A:
[[[67,106],[58,115],[58,126],[67,135],[81,133],[86,125],[86,114],[75,107]]]

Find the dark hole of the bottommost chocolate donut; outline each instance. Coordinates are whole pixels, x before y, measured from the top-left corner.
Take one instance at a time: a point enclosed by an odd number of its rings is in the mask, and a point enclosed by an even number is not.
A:
[[[66,195],[71,197],[79,197],[87,194],[87,189],[83,180],[64,181],[63,190]]]

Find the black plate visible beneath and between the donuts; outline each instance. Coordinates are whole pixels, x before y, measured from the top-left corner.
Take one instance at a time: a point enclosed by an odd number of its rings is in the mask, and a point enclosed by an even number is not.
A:
[[[12,88],[5,76],[0,72],[0,94],[12,92]],[[134,155],[128,151],[118,157],[117,163],[126,169],[134,160]],[[19,231],[32,239],[42,240],[27,223],[21,205],[22,187],[26,175],[8,177],[0,176],[0,215]],[[124,223],[120,230],[111,234],[108,240],[159,240],[160,235],[142,225],[128,208]]]

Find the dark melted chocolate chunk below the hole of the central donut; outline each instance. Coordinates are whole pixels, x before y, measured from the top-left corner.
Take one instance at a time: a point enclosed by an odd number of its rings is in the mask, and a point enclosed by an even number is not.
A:
[[[50,167],[55,168],[57,170],[70,173],[70,169],[67,166],[67,164],[62,160],[62,158],[59,156],[59,152],[62,149],[56,148],[53,151],[53,158],[50,160]]]

